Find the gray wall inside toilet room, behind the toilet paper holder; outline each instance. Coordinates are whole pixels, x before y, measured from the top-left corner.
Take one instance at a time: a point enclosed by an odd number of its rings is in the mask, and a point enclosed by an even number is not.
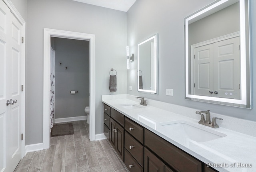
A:
[[[55,119],[85,116],[84,108],[90,104],[89,41],[55,38],[54,44]]]

